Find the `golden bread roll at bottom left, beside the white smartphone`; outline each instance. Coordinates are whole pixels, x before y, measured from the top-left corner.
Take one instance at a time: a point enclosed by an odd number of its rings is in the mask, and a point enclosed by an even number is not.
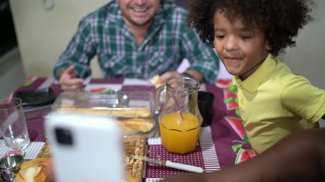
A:
[[[52,158],[37,158],[25,161],[15,178],[16,182],[55,181],[52,170]]]

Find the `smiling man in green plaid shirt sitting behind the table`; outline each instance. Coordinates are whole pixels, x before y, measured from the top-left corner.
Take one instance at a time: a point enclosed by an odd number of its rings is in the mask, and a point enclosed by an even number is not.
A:
[[[63,90],[82,90],[98,55],[106,78],[152,78],[159,82],[186,76],[213,83],[219,59],[186,26],[186,10],[169,0],[113,0],[84,17],[54,68]],[[184,58],[185,73],[176,69]]]

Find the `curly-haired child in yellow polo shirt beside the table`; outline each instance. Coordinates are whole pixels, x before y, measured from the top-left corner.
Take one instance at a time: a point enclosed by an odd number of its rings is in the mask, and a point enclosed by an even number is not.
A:
[[[319,127],[325,90],[275,59],[313,18],[312,0],[188,0],[187,26],[215,48],[238,87],[252,148],[262,153],[290,133]]]

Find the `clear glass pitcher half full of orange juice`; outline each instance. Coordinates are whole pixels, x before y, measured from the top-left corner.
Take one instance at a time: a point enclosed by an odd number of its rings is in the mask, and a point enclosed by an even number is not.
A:
[[[158,121],[161,143],[170,153],[186,154],[197,147],[203,118],[198,109],[198,80],[177,77],[166,81],[155,92],[155,109],[160,111],[160,94],[166,101]]]

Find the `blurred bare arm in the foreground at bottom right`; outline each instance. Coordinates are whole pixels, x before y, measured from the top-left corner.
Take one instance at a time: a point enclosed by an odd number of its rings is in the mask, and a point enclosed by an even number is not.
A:
[[[291,134],[246,162],[216,172],[176,175],[167,181],[324,181],[325,128]]]

